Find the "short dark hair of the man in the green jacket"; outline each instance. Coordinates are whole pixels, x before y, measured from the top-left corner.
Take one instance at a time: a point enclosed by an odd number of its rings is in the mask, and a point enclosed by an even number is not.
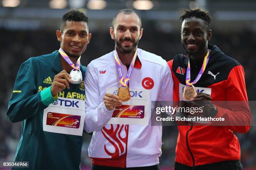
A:
[[[76,21],[88,23],[88,17],[79,10],[70,10],[65,13],[61,20],[60,31],[62,32],[66,26],[66,21]]]

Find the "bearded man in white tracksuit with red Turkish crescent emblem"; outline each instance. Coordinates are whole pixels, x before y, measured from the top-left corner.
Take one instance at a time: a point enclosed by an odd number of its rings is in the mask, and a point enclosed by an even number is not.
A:
[[[142,32],[139,15],[120,10],[110,27],[115,50],[87,67],[84,129],[94,132],[88,149],[92,170],[159,170],[162,127],[151,126],[151,101],[172,100],[173,80],[165,60],[137,48]],[[132,106],[140,108],[132,123],[108,123],[112,117],[127,119],[125,114],[113,116],[127,106],[115,95],[120,86],[130,91],[130,102],[145,102],[143,107]]]

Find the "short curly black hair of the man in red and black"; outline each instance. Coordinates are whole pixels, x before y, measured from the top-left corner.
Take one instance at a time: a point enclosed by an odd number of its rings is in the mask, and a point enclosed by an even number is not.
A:
[[[212,18],[207,11],[202,11],[200,8],[195,10],[185,10],[184,15],[182,15],[179,19],[184,21],[186,18],[196,17],[205,21],[205,25],[209,28],[210,23],[212,22]]]

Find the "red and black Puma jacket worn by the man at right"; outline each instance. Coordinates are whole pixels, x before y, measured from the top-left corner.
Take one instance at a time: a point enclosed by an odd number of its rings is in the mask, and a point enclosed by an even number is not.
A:
[[[195,87],[209,88],[212,101],[248,101],[243,67],[220,51],[217,46],[208,45],[208,48],[211,49],[210,59]],[[168,62],[174,80],[174,101],[180,100],[179,86],[185,85],[187,63],[188,57],[182,54],[176,55]],[[215,77],[210,75],[209,71]],[[191,71],[191,80],[194,80],[195,76]],[[191,123],[187,126],[178,126],[175,161],[188,166],[197,166],[239,160],[240,145],[233,132],[246,133],[251,127],[251,112],[248,102],[244,103],[246,107],[243,109],[233,107],[232,110],[228,110],[217,106],[218,113],[215,116],[224,117],[230,122],[245,122],[243,126],[194,126]]]

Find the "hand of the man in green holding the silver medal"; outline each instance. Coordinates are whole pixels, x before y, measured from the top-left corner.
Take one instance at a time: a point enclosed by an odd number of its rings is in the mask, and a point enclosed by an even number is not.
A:
[[[56,96],[58,92],[64,90],[66,87],[69,89],[69,82],[71,82],[71,76],[66,70],[62,70],[59,74],[54,76],[54,80],[51,85],[51,95]]]

